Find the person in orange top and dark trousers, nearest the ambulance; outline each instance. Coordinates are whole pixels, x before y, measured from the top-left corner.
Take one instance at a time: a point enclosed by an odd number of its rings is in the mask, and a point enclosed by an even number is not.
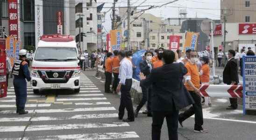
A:
[[[112,83],[112,53],[107,53],[107,59],[105,61],[105,93],[112,93],[110,91],[110,85]]]

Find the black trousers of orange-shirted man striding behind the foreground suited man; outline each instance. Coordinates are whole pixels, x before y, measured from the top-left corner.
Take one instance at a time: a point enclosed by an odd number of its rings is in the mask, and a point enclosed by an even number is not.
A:
[[[179,114],[178,119],[180,121],[184,121],[185,119],[188,119],[193,114],[195,114],[195,126],[194,130],[201,130],[202,125],[204,123],[203,121],[203,111],[202,111],[202,104],[201,104],[201,97],[195,93],[195,91],[189,91],[190,95],[195,101],[195,104],[193,104],[192,107],[190,107],[185,112]]]

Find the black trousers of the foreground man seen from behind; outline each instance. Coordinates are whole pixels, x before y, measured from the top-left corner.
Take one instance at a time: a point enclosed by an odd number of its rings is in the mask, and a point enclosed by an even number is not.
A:
[[[152,140],[160,140],[161,128],[166,118],[169,140],[178,140],[178,110],[173,112],[154,112],[152,122]]]

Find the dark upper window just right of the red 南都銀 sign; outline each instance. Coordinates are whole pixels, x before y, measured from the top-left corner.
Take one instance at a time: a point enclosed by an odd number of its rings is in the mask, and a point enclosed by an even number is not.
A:
[[[22,9],[24,21],[35,21],[35,0],[23,0]]]

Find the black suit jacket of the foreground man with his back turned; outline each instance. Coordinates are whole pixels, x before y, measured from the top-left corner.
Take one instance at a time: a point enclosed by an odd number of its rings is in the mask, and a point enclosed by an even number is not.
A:
[[[143,85],[152,84],[152,111],[173,111],[174,107],[178,110],[194,103],[182,82],[186,73],[182,63],[165,64],[153,69],[146,79],[141,80]]]

